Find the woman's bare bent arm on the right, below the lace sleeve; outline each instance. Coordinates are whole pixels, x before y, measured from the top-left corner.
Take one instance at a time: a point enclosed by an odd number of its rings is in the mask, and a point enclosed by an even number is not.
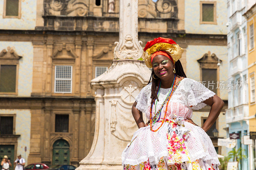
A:
[[[224,106],[224,101],[221,100],[219,96],[214,95],[213,97],[210,97],[209,99],[206,99],[202,102],[211,106],[210,113],[202,126],[204,131],[207,132],[219,117],[220,112]]]

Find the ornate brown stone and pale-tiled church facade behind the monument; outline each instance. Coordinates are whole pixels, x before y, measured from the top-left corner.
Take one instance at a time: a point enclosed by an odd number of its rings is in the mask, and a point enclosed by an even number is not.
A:
[[[119,1],[0,3],[0,121],[12,122],[12,130],[1,133],[6,138],[0,139],[0,147],[7,150],[8,140],[15,138],[13,158],[18,152],[26,154],[28,164],[78,166],[94,136],[90,83],[112,64],[119,39]],[[220,17],[225,10],[219,0],[139,0],[138,38],[142,47],[156,37],[172,38],[184,49],[181,63],[188,78],[204,81],[214,75],[214,82],[225,80],[226,20]],[[212,15],[205,16],[205,11]],[[225,89],[214,86],[214,92],[227,103]],[[202,125],[207,113],[209,107],[194,112],[192,119]],[[221,114],[214,127],[219,136],[209,132],[219,154],[217,138],[226,136],[223,122]]]

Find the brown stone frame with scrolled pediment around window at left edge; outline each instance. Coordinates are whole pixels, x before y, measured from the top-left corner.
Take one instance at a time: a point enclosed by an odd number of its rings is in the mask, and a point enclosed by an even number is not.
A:
[[[7,53],[11,53],[11,57],[4,57]],[[12,48],[8,47],[7,50],[3,49],[0,52],[0,67],[1,65],[16,65],[16,87],[15,92],[0,92],[0,95],[18,95],[18,80],[19,80],[19,60],[22,56],[19,56]],[[1,68],[0,68],[1,69]]]

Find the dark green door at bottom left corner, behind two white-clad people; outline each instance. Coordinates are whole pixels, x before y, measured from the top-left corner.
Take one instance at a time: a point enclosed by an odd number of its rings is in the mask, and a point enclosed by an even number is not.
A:
[[[14,162],[14,145],[0,145],[0,160],[4,158],[4,155],[7,155],[10,159],[12,166],[9,168],[13,170],[13,162]],[[1,166],[1,165],[0,165]]]

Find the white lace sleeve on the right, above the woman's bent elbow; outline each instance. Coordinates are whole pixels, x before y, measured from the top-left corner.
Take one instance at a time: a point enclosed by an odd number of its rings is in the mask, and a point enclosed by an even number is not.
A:
[[[214,96],[215,93],[206,88],[202,83],[193,79],[188,79],[188,106],[192,109],[198,110],[206,106],[202,101]]]

